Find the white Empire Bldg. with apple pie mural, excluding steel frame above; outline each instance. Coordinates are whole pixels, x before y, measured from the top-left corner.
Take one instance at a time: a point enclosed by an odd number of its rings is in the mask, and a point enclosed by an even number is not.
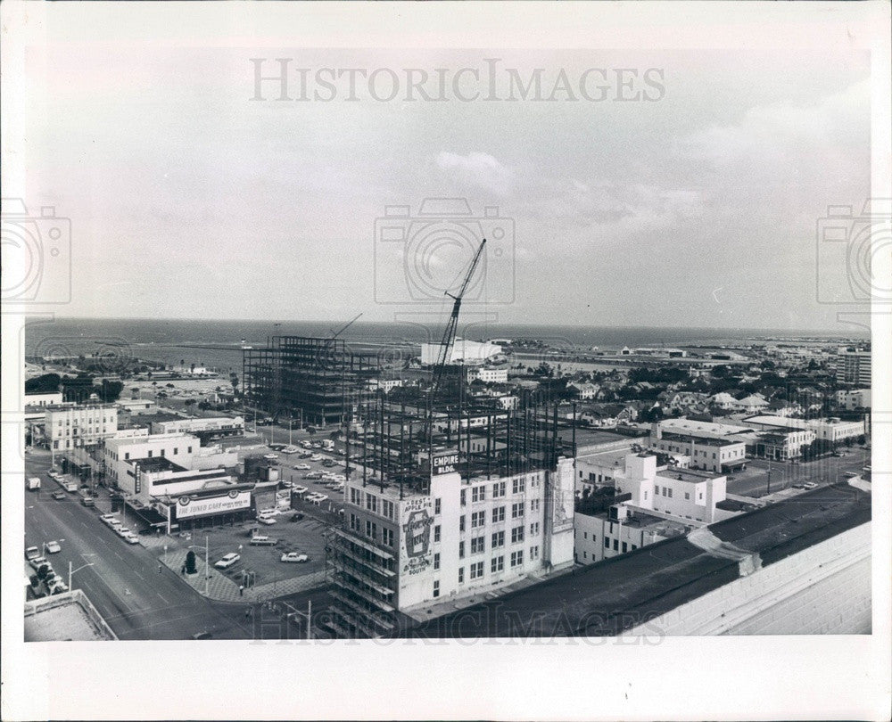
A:
[[[462,479],[455,452],[433,467],[427,494],[348,482],[331,559],[342,635],[384,634],[398,611],[428,619],[450,611],[442,602],[573,563],[572,459],[489,480]]]

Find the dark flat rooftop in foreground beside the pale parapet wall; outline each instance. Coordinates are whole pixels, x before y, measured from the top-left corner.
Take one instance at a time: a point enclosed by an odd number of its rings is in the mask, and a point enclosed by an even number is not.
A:
[[[709,529],[769,566],[871,521],[871,494],[847,483],[739,514]],[[401,628],[399,636],[615,636],[739,578],[735,560],[675,537]],[[485,594],[485,591],[482,593]]]

